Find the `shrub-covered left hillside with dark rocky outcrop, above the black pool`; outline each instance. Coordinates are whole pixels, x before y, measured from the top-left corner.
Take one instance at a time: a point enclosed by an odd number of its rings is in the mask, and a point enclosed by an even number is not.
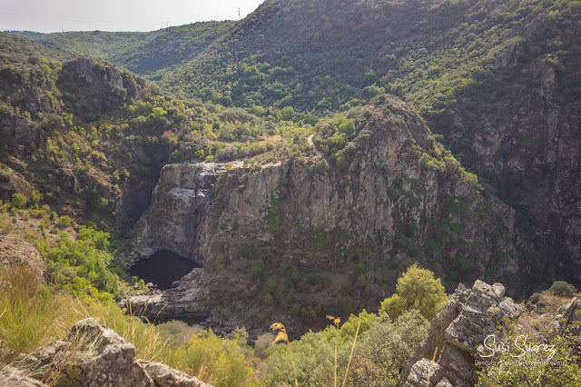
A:
[[[240,109],[174,101],[159,88],[87,57],[15,36],[0,63],[0,163],[9,200],[35,187],[59,212],[127,232],[149,205],[163,164],[310,154],[310,127]],[[44,54],[50,56],[43,56]],[[294,139],[305,144],[294,144]],[[256,162],[251,160],[252,162]]]

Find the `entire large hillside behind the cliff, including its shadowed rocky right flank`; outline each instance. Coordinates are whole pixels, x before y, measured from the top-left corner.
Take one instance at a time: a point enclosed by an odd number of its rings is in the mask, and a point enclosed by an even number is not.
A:
[[[580,32],[578,2],[267,1],[162,82],[297,111],[399,95],[565,268],[581,259]]]

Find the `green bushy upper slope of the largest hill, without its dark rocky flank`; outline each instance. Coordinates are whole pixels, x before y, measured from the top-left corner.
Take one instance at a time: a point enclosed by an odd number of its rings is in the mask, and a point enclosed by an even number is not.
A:
[[[537,17],[570,25],[577,11],[540,0],[271,0],[163,82],[202,97],[228,93],[241,106],[303,111],[357,104],[351,100],[385,87],[429,109],[470,78],[496,71],[496,56],[534,35],[527,26]]]

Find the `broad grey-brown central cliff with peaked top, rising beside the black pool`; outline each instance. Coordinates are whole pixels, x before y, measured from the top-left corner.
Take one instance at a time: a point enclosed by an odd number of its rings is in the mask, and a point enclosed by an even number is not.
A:
[[[421,154],[441,149],[406,104],[379,100],[366,109],[372,114],[358,127],[370,136],[357,141],[348,170],[166,165],[134,230],[132,263],[162,249],[201,263],[202,310],[247,320],[259,297],[261,311],[291,308],[299,320],[372,306],[415,261],[446,283],[510,278],[511,291],[523,293],[527,243],[514,212],[453,158],[438,170],[422,164]]]

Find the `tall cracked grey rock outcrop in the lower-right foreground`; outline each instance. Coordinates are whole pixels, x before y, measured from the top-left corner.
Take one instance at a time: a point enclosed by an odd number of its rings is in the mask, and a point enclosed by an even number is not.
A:
[[[505,287],[482,281],[467,290],[459,286],[432,320],[428,336],[416,351],[402,378],[405,387],[426,386],[431,359],[438,348],[429,386],[471,386],[478,382],[478,347],[497,332],[504,319],[517,320],[525,307],[504,298]]]

